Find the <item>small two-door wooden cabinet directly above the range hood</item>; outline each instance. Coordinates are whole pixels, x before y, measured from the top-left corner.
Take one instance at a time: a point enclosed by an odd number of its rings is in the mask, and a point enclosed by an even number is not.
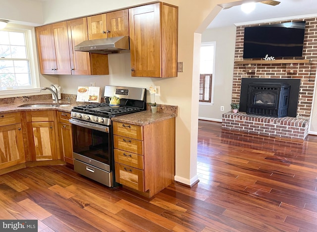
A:
[[[87,17],[88,39],[129,36],[128,9]]]

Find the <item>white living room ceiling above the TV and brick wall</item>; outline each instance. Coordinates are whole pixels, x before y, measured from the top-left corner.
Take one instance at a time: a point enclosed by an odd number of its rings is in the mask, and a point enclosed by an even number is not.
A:
[[[254,21],[277,21],[274,19],[292,19],[294,16],[311,15],[317,17],[317,0],[279,0],[276,6],[256,3],[253,12],[246,14],[241,6],[222,9],[208,26],[210,28],[227,27],[233,24],[250,24]],[[302,17],[301,17],[302,18]]]

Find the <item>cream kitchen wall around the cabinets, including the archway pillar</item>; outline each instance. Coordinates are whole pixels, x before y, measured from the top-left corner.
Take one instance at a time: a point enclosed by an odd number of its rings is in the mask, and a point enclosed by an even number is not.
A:
[[[18,1],[18,0],[11,0]],[[10,1],[10,2],[11,2]],[[216,4],[228,0],[164,0],[166,3],[179,6],[178,30],[178,61],[184,62],[184,72],[175,78],[133,78],[130,73],[129,53],[109,55],[110,75],[106,76],[71,76],[52,77],[58,80],[64,93],[76,93],[79,85],[96,82],[97,86],[126,85],[149,88],[151,85],[161,87],[161,96],[157,103],[178,105],[179,114],[176,118],[176,176],[175,180],[187,185],[197,179],[197,134],[198,134],[198,95],[199,95],[199,59],[201,33],[206,29],[212,18],[220,11]],[[230,0],[235,1],[235,0]],[[152,2],[150,0],[50,0],[44,1],[43,22],[82,17],[90,14],[111,11],[131,5]],[[15,5],[18,9],[18,5]],[[22,10],[22,9],[20,9]],[[36,13],[28,11],[27,14]],[[25,13],[26,14],[26,13]],[[194,46],[195,45],[195,46]],[[195,48],[194,48],[195,47]],[[48,77],[49,76],[49,77]],[[42,80],[50,79],[43,75]],[[149,97],[149,96],[148,96]],[[148,98],[149,101],[149,98]]]

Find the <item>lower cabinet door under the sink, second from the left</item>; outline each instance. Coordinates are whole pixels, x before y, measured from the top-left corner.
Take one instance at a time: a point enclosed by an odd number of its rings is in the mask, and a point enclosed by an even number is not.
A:
[[[29,122],[27,130],[33,161],[57,159],[54,122]]]

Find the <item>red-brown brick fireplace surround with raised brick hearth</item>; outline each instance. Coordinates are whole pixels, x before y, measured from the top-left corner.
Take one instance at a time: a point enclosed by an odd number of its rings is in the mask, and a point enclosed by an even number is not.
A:
[[[242,78],[301,79],[297,117],[272,118],[247,115],[245,112],[239,112],[237,114],[228,112],[222,115],[223,129],[281,139],[304,140],[308,135],[317,69],[317,18],[292,21],[306,21],[303,57],[292,58],[294,59],[294,63],[283,62],[283,60],[279,63],[276,61],[278,58],[276,58],[274,62],[268,61],[267,63],[239,62],[246,61],[246,59],[243,59],[244,28],[263,24],[237,27],[232,102],[239,103],[240,101]],[[274,23],[292,21],[279,21]],[[299,59],[309,60],[309,63],[302,63],[298,61]],[[251,59],[247,60],[250,61]]]

